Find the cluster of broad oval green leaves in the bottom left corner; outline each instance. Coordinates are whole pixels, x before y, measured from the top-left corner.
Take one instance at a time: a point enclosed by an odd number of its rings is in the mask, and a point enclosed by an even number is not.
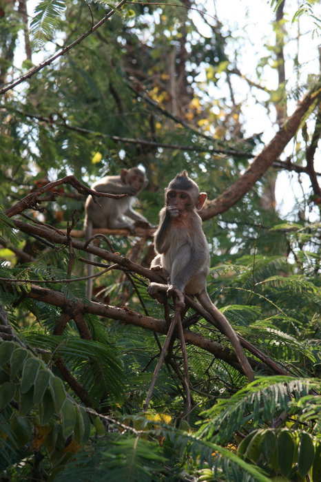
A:
[[[0,370],[1,471],[10,466],[12,457],[17,461],[29,457],[30,447],[46,448],[55,465],[65,445],[87,441],[87,413],[69,398],[63,381],[41,359],[14,342],[1,342]]]

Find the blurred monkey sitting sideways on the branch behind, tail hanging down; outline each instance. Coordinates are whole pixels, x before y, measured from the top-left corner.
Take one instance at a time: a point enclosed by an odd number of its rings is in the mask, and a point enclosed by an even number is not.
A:
[[[147,185],[145,172],[138,167],[130,169],[121,169],[118,176],[105,176],[94,182],[92,189],[99,192],[110,194],[128,194],[128,196],[120,199],[99,198],[99,206],[92,196],[88,196],[85,202],[85,220],[84,231],[85,238],[88,240],[92,236],[93,229],[129,229],[131,234],[135,233],[136,227],[150,228],[151,224],[137,211],[132,209],[135,202],[135,196],[145,185]],[[127,219],[123,219],[125,216]],[[128,218],[134,222],[130,222]],[[94,257],[88,254],[87,259],[92,260]],[[91,276],[93,268],[91,264],[87,264],[87,275]],[[92,298],[92,280],[87,280],[86,296],[88,300]]]

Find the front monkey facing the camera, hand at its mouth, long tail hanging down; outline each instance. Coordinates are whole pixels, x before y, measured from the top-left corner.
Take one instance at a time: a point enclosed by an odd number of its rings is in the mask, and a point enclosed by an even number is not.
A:
[[[152,282],[147,292],[159,302],[164,300],[165,295],[176,295],[181,309],[185,306],[185,294],[196,296],[207,313],[220,324],[222,332],[229,337],[242,369],[249,379],[253,379],[253,370],[236,333],[207,293],[209,246],[197,212],[206,200],[207,193],[200,192],[186,170],[169,182],[165,189],[165,207],[160,211],[160,222],[154,233],[156,257],[150,266],[152,270],[163,271],[168,283]]]

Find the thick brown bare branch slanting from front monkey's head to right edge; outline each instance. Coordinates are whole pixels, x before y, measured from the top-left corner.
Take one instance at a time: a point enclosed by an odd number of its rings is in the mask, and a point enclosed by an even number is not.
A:
[[[273,162],[278,159],[278,156],[282,154],[284,147],[286,147],[287,143],[289,143],[291,138],[296,134],[302,118],[307,114],[309,107],[311,107],[313,103],[320,101],[320,98],[320,86],[318,90],[313,90],[313,92],[309,92],[304,96],[295,112],[293,112],[287,122],[284,123],[270,143],[253,159],[245,173],[234,182],[234,185],[228,187],[224,193],[218,196],[218,198],[207,202],[205,208],[203,208],[200,213],[203,221],[213,218],[219,213],[224,213],[249,192],[255,183],[262,178],[267,169],[273,165]]]

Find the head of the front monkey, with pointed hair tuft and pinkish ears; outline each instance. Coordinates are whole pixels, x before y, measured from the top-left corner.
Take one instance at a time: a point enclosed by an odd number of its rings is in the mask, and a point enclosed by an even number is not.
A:
[[[187,171],[176,174],[165,189],[165,205],[178,207],[178,211],[200,210],[207,199],[207,193],[200,193],[196,182],[189,178]]]

